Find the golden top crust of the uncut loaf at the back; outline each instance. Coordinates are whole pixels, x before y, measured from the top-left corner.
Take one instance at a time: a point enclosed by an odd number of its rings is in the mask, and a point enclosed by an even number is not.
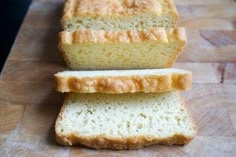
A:
[[[173,0],[67,0],[62,19],[77,16],[132,16],[143,13],[178,18]]]

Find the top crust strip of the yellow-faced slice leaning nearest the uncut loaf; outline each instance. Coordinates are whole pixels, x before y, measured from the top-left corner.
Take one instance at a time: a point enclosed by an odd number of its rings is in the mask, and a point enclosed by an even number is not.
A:
[[[74,32],[63,31],[59,34],[59,46],[63,44],[76,43],[132,43],[158,41],[169,43],[172,41],[187,42],[186,32],[183,27],[171,28],[150,28],[148,30],[125,30],[125,31],[105,31],[105,30],[76,30]]]

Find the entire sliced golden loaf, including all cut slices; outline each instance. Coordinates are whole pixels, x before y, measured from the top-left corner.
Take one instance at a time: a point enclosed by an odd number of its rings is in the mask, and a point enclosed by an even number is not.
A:
[[[172,0],[67,0],[59,49],[71,69],[56,120],[62,145],[137,149],[186,144],[196,134],[179,90],[192,73],[171,68],[186,44]]]

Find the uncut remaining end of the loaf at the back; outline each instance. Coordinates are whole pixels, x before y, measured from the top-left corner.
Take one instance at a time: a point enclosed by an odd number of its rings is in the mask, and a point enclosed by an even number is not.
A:
[[[142,30],[175,27],[173,0],[67,0],[61,19],[67,31]]]

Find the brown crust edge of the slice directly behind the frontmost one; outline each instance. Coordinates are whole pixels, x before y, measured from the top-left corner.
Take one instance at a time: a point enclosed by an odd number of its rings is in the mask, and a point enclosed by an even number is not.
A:
[[[191,73],[105,77],[54,76],[57,83],[57,91],[60,92],[150,93],[188,90],[192,87]]]

